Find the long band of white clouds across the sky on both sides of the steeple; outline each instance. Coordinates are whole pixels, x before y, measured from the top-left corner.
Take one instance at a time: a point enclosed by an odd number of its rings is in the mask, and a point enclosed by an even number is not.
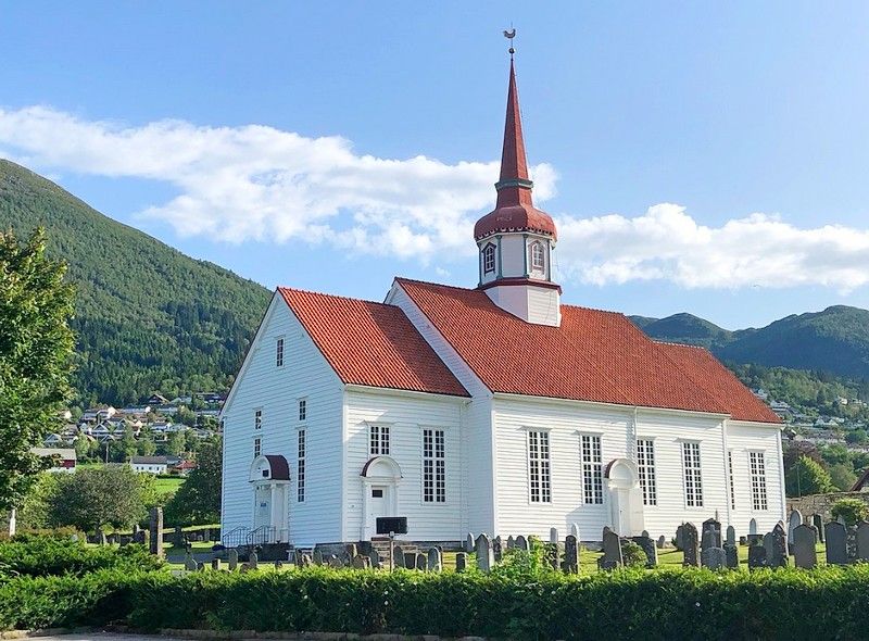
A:
[[[423,263],[473,254],[473,224],[492,206],[498,174],[496,162],[379,159],[355,153],[343,138],[259,125],[125,126],[43,106],[0,110],[0,155],[43,173],[171,185],[177,194],[141,215],[180,235],[230,242],[302,239]],[[555,192],[556,173],[540,164],[533,174],[542,202]],[[557,223],[558,266],[567,280],[845,291],[869,281],[867,230],[803,229],[765,214],[707,227],[667,203],[635,217],[565,215]]]

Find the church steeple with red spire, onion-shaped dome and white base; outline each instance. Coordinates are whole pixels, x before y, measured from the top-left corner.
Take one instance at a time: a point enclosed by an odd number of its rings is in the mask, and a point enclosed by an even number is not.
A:
[[[512,37],[507,32],[504,33]],[[515,33],[514,33],[515,35]],[[511,47],[507,115],[501,150],[495,209],[477,221],[474,238],[480,251],[480,289],[495,304],[528,323],[561,323],[561,287],[552,281],[555,223],[537,209],[528,177],[519,91]]]

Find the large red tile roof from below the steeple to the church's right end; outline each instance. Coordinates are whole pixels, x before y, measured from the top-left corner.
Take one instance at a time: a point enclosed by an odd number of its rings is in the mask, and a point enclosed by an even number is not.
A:
[[[396,281],[494,392],[735,412],[743,419],[778,422],[768,409],[745,399],[754,395],[711,355],[708,362],[683,357],[622,314],[563,305],[561,327],[533,325],[480,290]]]

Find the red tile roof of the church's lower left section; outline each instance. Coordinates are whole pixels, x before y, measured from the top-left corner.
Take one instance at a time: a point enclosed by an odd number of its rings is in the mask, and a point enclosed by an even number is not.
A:
[[[345,384],[469,395],[394,305],[279,287]]]

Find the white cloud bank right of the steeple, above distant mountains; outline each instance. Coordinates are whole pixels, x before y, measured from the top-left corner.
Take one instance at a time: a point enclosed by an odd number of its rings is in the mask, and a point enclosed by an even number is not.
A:
[[[801,229],[752,214],[706,227],[664,203],[644,215],[558,221],[559,267],[593,285],[669,280],[687,288],[785,288],[849,291],[869,282],[869,230],[827,225]]]

